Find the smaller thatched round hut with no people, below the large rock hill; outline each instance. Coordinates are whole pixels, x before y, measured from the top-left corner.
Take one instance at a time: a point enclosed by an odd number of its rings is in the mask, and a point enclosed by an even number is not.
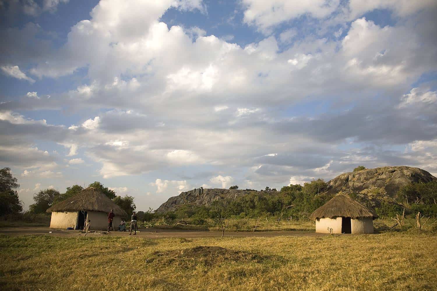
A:
[[[373,219],[378,215],[348,195],[336,195],[312,212],[316,233],[373,233]]]

